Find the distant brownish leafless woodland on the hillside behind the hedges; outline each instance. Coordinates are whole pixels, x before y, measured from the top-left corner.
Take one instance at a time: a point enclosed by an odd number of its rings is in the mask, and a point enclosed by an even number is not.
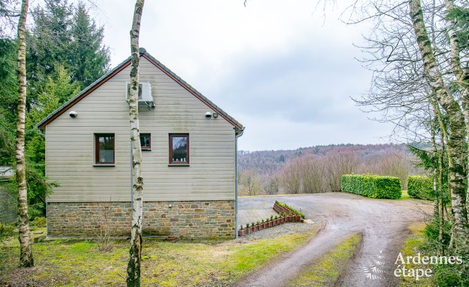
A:
[[[408,175],[421,173],[404,144],[241,150],[238,157],[242,195],[339,191],[341,176],[350,173],[399,177],[405,189]]]

